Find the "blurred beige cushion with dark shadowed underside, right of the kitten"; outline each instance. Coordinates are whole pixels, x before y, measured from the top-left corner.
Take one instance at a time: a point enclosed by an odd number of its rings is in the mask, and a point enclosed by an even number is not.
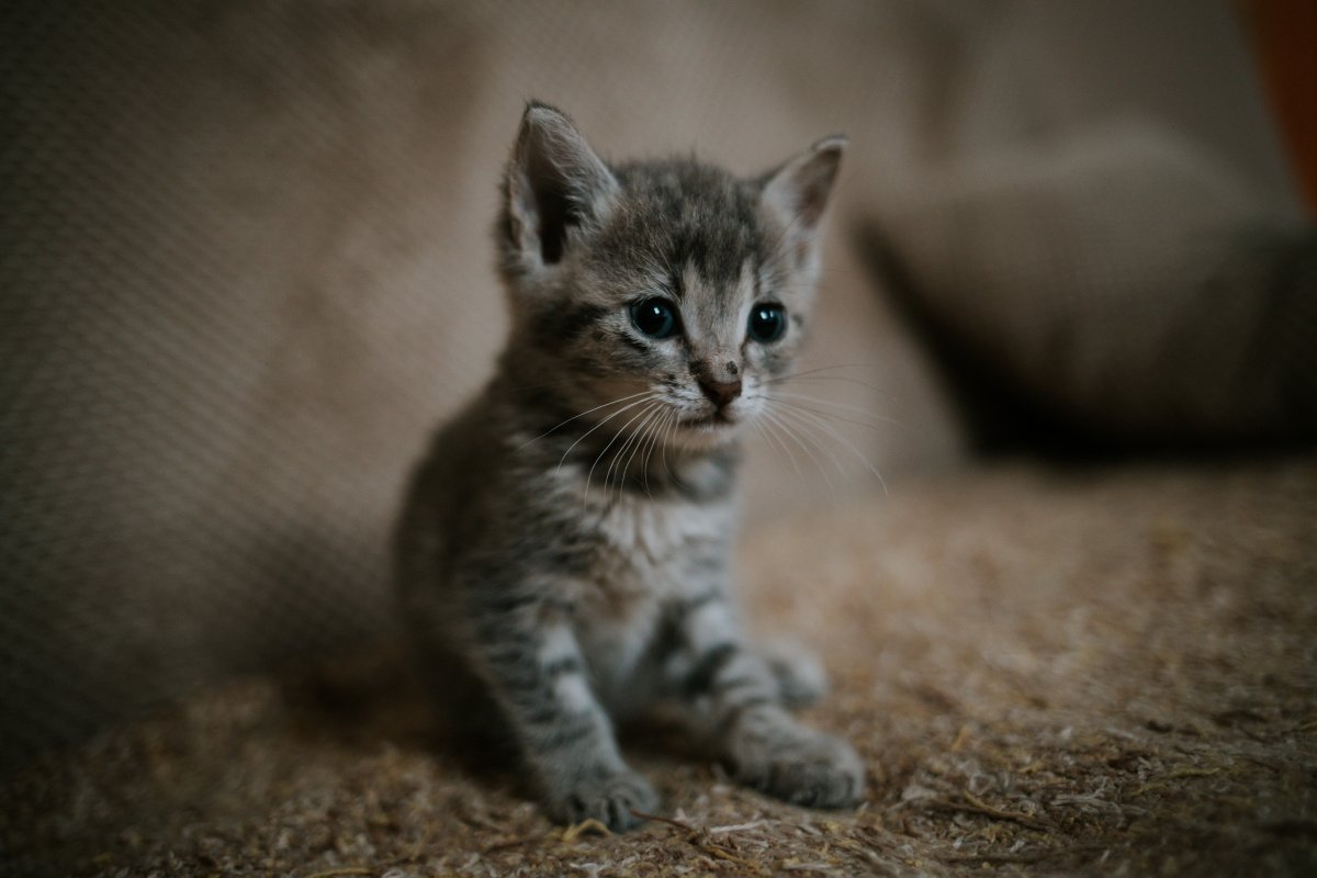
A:
[[[1317,437],[1317,234],[1172,132],[988,157],[880,213],[873,250],[985,442]]]

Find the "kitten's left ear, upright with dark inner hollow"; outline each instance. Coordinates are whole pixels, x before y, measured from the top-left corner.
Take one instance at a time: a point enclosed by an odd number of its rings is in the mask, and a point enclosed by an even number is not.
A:
[[[531,101],[504,180],[503,234],[525,267],[562,259],[572,230],[603,219],[618,180],[564,113]]]

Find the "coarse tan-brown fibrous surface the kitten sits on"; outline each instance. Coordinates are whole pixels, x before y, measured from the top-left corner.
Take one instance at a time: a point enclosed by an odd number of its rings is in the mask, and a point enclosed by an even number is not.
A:
[[[897,484],[748,534],[822,648],[856,812],[631,745],[664,795],[564,831],[473,771],[391,648],[254,679],[0,787],[4,874],[1314,874],[1317,457]]]

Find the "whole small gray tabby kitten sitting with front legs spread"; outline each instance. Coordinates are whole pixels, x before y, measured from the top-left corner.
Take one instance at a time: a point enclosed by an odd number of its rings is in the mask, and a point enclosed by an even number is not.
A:
[[[497,229],[511,338],[416,471],[396,559],[427,670],[554,820],[657,806],[614,737],[657,706],[743,783],[863,795],[855,750],[786,710],[817,665],[745,642],[730,570],[738,440],[801,344],[844,145],[755,179],[610,166],[527,107]]]

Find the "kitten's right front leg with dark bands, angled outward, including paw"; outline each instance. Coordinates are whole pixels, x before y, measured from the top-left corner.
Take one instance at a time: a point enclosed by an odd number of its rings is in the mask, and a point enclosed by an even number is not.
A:
[[[785,710],[763,656],[749,649],[720,588],[676,611],[669,679],[732,777],[795,804],[840,808],[864,795],[864,767],[846,741]]]

